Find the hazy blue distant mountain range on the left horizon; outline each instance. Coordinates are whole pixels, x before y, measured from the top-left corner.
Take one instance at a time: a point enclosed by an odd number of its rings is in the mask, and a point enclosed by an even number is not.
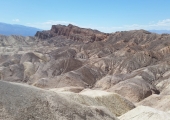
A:
[[[34,36],[37,31],[41,31],[41,29],[23,26],[23,25],[17,25],[17,24],[6,24],[0,22],[1,35]]]

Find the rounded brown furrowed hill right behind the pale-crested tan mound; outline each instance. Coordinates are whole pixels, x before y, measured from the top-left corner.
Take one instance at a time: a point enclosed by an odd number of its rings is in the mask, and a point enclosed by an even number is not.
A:
[[[141,76],[136,76],[132,79],[119,82],[112,88],[108,89],[108,91],[114,91],[121,94],[133,102],[139,102],[153,93],[158,93],[156,88],[143,80]]]

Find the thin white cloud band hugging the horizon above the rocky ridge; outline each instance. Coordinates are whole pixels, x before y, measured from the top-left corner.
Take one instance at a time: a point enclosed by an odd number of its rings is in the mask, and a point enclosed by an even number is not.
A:
[[[76,23],[70,22],[70,21],[55,21],[55,20],[48,20],[46,22],[39,22],[39,23],[27,23],[26,25],[36,28],[41,28],[44,30],[49,30],[52,25],[68,25],[73,24],[77,25]],[[145,29],[145,30],[170,30],[170,19],[160,20],[158,22],[151,21],[148,22],[148,24],[131,24],[131,25],[122,25],[122,26],[110,26],[110,27],[102,27],[102,26],[92,26],[92,25],[77,25],[84,28],[92,28],[97,29],[102,32],[115,32],[115,31],[124,31],[124,30],[139,30],[139,29]]]

